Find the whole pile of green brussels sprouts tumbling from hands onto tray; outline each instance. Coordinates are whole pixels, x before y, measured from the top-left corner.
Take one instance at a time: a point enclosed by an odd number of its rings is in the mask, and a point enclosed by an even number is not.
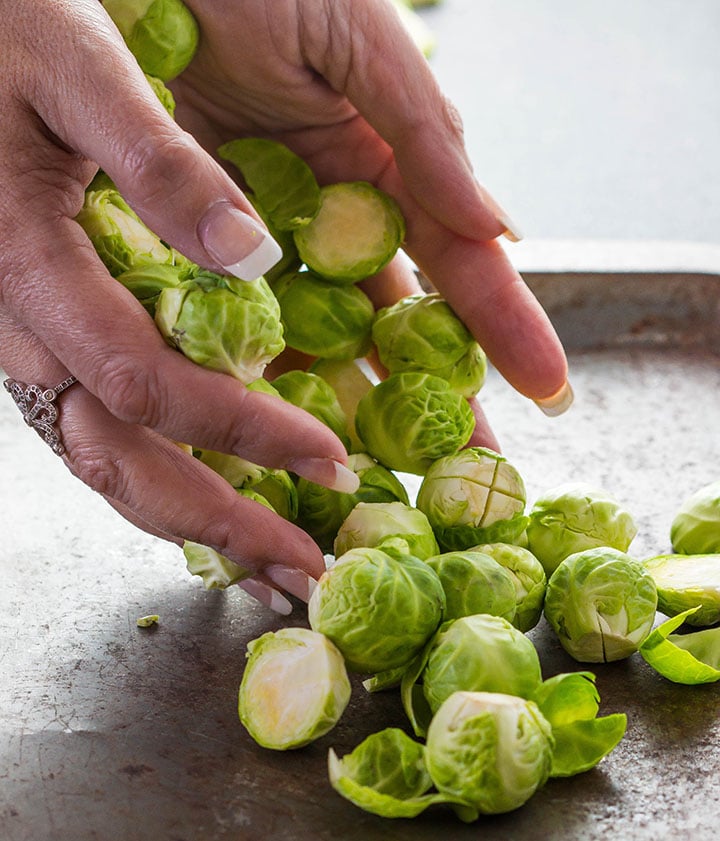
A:
[[[141,66],[144,51],[159,54],[143,41],[150,30],[157,40],[159,18],[154,30],[141,24],[148,8],[172,3],[105,5]],[[163,80],[192,57],[188,26],[183,57],[144,66],[170,114]],[[528,636],[543,616],[578,663],[639,652],[669,680],[718,680],[720,627],[710,626],[720,621],[720,483],[678,511],[676,554],[644,561],[628,554],[632,515],[602,489],[569,482],[528,507],[518,470],[468,446],[467,398],[482,387],[486,360],[447,302],[428,293],[375,312],[358,285],[402,246],[393,199],[365,182],[321,187],[273,141],[233,140],[218,154],[283,247],[264,277],[245,282],[195,265],[103,173],[78,222],[169,344],[313,414],[345,443],[359,477],[355,493],[340,493],[186,445],[239,494],[304,528],[328,558],[307,622],[248,644],[238,709],[253,739],[288,750],[327,734],[359,675],[362,691],[397,691],[408,724],[342,758],[331,749],[333,788],[386,817],[443,804],[474,821],[522,806],[550,778],[594,767],[625,734],[624,714],[598,715],[592,672],[543,679]],[[269,382],[265,369],[285,347],[314,361]],[[385,379],[358,364],[371,350]],[[419,481],[414,499],[408,476]],[[207,588],[249,574],[208,547],[187,542],[183,551]],[[654,627],[658,610],[668,618]],[[702,629],[673,633],[683,623]]]

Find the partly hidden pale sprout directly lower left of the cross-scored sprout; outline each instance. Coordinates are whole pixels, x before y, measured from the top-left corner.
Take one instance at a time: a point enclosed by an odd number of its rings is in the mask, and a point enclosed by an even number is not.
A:
[[[338,529],[336,556],[350,549],[378,547],[390,554],[425,560],[438,553],[427,517],[406,502],[358,502]]]

